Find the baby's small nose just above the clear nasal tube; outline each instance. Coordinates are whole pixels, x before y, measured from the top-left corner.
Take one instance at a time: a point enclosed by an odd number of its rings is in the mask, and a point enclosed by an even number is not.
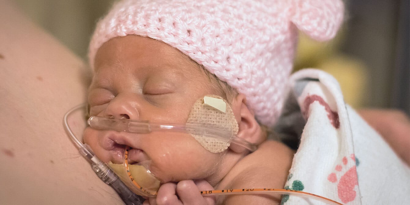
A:
[[[116,96],[105,110],[105,117],[137,120],[139,118],[138,103],[121,96]]]

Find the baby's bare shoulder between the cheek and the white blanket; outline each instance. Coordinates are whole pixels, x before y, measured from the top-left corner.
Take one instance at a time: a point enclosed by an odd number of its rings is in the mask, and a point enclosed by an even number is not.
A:
[[[242,158],[228,173],[221,189],[279,188],[285,186],[292,164],[294,151],[278,141],[265,141],[259,148]],[[246,197],[244,197],[246,196]],[[231,195],[222,204],[273,204],[280,197],[254,195]]]

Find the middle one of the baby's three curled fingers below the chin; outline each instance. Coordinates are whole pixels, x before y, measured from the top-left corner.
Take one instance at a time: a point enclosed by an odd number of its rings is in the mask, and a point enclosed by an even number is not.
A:
[[[177,193],[182,203],[206,205],[208,201],[200,194],[198,186],[192,180],[183,180],[177,184]]]

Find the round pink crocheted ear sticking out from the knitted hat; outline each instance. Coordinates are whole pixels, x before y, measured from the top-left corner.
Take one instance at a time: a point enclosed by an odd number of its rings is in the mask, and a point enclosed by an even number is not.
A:
[[[317,41],[332,39],[343,21],[342,0],[292,0],[291,21]]]

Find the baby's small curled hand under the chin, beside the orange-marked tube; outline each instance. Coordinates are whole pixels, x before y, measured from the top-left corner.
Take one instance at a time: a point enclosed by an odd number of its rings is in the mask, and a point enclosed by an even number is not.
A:
[[[159,187],[157,198],[149,198],[143,205],[214,205],[215,196],[202,196],[200,191],[214,188],[205,180],[168,182]]]

